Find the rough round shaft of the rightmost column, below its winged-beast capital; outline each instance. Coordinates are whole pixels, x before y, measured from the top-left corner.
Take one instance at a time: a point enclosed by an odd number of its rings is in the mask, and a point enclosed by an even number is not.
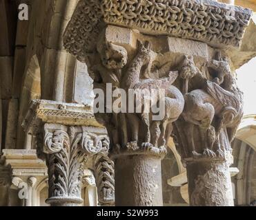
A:
[[[188,162],[190,206],[234,206],[229,166],[224,159]]]

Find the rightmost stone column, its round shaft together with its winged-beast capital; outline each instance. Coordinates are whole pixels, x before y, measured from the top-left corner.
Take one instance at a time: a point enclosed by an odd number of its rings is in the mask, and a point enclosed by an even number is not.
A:
[[[200,89],[184,92],[185,107],[173,136],[187,169],[190,205],[233,206],[230,142],[243,115],[242,93],[226,57],[218,52],[207,67],[215,71],[215,78],[193,75],[192,58],[190,65],[186,61],[181,65],[180,74],[186,71],[188,88],[193,81]]]

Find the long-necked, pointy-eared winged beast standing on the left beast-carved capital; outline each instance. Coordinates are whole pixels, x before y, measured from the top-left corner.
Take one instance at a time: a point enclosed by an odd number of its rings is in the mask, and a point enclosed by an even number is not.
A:
[[[146,125],[147,130],[144,144],[150,143],[153,146],[164,146],[166,137],[168,137],[168,134],[170,135],[172,130],[171,123],[179,118],[179,115],[181,115],[181,112],[184,109],[183,95],[179,89],[172,85],[178,74],[177,72],[171,72],[170,68],[168,69],[168,64],[166,64],[161,67],[160,72],[163,72],[163,69],[166,69],[166,72],[168,73],[166,74],[167,77],[155,79],[141,78],[141,75],[150,76],[150,67],[154,60],[154,52],[150,49],[150,43],[146,42],[145,46],[141,42],[138,42],[138,44],[139,48],[137,55],[133,58],[127,71],[124,73],[125,75],[122,78],[121,88],[126,89],[126,91],[128,91],[128,89],[148,89],[148,91],[152,91],[152,89],[156,89],[157,91],[164,89],[165,112],[163,120],[152,121],[152,113],[145,113],[144,111],[139,115]],[[146,69],[144,69],[143,72],[144,66],[146,66]],[[142,103],[144,103],[144,98],[145,96],[142,96]],[[159,99],[156,100],[156,103],[154,104],[157,104],[157,102],[159,102]],[[142,109],[144,109],[143,105]],[[135,113],[128,113],[127,117],[132,126],[132,141],[137,142],[139,134],[138,115]],[[166,131],[166,128],[168,131]],[[160,140],[159,137],[161,137]]]

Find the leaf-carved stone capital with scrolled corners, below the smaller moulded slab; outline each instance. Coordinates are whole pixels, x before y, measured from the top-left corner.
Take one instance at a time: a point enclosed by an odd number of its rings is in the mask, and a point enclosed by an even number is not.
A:
[[[44,124],[43,142],[38,143],[46,158],[49,176],[48,203],[70,206],[81,203],[81,186],[86,157],[108,154],[106,130],[86,126]]]

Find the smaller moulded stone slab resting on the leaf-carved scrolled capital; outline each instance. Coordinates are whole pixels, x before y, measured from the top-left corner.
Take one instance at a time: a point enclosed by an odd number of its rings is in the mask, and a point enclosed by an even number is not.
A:
[[[102,127],[95,120],[90,106],[50,100],[32,100],[22,126],[26,132],[32,130],[32,133],[37,133],[41,129],[41,122]]]

